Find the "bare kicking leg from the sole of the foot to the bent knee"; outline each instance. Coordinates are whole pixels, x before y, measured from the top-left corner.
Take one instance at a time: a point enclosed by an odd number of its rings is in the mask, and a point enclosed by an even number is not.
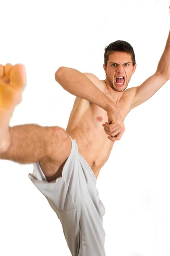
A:
[[[62,164],[71,151],[71,139],[64,129],[34,124],[8,126],[25,85],[23,65],[0,65],[0,158],[25,164],[41,159]]]

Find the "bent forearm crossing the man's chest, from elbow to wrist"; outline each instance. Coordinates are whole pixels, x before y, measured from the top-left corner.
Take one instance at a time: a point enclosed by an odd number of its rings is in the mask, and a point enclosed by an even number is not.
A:
[[[115,103],[78,70],[60,67],[55,73],[55,79],[69,93],[81,99],[86,99],[105,111],[113,109],[119,112]]]

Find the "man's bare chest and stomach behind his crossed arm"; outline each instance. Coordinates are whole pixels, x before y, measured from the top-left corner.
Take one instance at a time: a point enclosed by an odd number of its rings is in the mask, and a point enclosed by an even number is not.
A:
[[[128,90],[124,91],[119,103],[116,104],[123,121],[130,111],[132,102]],[[112,99],[107,89],[105,94]],[[91,166],[96,178],[108,160],[114,144],[108,140],[108,135],[104,131],[102,124],[105,122],[108,122],[105,110],[85,99],[75,99],[66,131],[72,139],[76,139],[79,153]]]

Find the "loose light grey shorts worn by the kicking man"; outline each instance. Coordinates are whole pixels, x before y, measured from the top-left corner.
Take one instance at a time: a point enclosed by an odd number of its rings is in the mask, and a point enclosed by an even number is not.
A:
[[[105,256],[105,207],[96,189],[96,177],[72,140],[62,177],[48,182],[40,163],[28,177],[47,198],[61,221],[72,256]]]

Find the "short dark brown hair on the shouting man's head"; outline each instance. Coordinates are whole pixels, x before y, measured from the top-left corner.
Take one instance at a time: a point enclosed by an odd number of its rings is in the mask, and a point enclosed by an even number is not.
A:
[[[105,47],[104,59],[105,59],[106,67],[107,67],[108,58],[109,58],[109,55],[111,54],[111,52],[127,52],[127,53],[129,53],[132,57],[133,67],[135,66],[136,60],[135,60],[135,53],[134,53],[133,47],[126,41],[118,40],[118,41],[115,41]]]

